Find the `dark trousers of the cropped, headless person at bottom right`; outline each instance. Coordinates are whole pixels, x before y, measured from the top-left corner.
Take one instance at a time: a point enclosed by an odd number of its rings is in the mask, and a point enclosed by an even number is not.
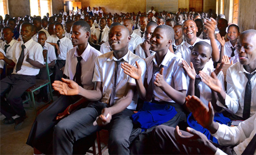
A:
[[[207,154],[208,150],[199,150],[196,147],[187,147],[178,143],[174,131],[174,127],[165,125],[155,127],[151,134],[151,140],[154,143],[154,151],[151,154]],[[188,132],[180,131],[183,136],[192,136]],[[234,146],[221,146],[213,142],[212,144],[229,155],[235,154]]]

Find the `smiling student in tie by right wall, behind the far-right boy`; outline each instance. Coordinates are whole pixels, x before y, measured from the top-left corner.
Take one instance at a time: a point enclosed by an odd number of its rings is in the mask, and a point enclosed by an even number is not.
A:
[[[229,41],[227,41],[224,45],[224,55],[227,55],[228,57],[233,57],[238,53],[236,52],[236,41],[239,35],[240,32],[237,25],[231,24],[228,26],[227,38]]]

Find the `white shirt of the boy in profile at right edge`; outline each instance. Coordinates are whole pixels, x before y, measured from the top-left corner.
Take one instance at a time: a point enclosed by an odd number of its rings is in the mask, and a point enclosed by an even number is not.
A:
[[[252,72],[255,73],[255,71]],[[248,82],[244,66],[240,62],[236,62],[227,69],[227,94],[225,104],[227,108],[217,101],[217,105],[223,107],[227,111],[234,113],[237,116],[243,117],[245,88]],[[250,117],[256,111],[256,73],[251,78],[252,96],[251,96],[251,112]]]

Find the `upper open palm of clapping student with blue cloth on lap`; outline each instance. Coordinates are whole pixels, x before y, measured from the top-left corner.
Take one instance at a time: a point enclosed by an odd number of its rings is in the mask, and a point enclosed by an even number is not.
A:
[[[131,76],[131,78],[139,80],[141,78],[141,67],[137,61],[136,61],[136,66],[137,68],[126,62],[121,63],[121,67],[123,68],[123,72],[125,74]]]

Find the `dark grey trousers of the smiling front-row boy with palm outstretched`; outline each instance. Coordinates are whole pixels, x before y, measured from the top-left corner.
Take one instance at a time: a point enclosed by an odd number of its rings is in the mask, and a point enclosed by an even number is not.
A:
[[[72,154],[76,141],[100,131],[102,127],[94,126],[93,122],[105,107],[107,107],[105,103],[92,102],[86,108],[75,111],[55,125],[53,154]],[[124,109],[112,115],[111,122],[104,127],[109,131],[109,154],[129,154],[129,137],[133,128],[130,119],[132,114],[134,114],[133,110]]]

